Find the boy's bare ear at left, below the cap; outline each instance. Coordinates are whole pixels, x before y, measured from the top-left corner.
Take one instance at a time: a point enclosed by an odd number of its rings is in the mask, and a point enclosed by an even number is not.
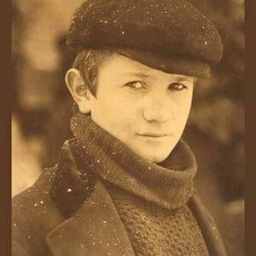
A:
[[[88,85],[84,83],[84,79],[78,69],[70,68],[65,76],[67,89],[73,96],[73,100],[78,104],[81,113],[90,113],[92,95]]]

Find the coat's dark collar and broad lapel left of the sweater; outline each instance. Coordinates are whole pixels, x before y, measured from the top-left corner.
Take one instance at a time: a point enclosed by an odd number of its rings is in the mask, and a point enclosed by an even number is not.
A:
[[[68,212],[68,215],[71,213],[68,205],[72,205],[72,209],[74,205],[78,205],[78,202],[73,204],[73,201],[77,201],[75,195],[79,195],[81,191],[74,190],[68,194],[67,188],[77,189],[82,186],[74,174],[75,163],[70,153],[70,148],[66,145],[59,166],[59,173],[62,173],[64,180],[55,184],[53,189],[53,198],[57,200],[59,207],[62,206],[62,211],[65,208],[64,213]],[[67,201],[63,193],[69,195],[66,197]],[[79,198],[80,202],[81,200]],[[63,207],[65,204],[66,207]],[[54,256],[135,255],[125,226],[100,179],[96,179],[90,195],[84,195],[84,201],[73,216],[52,230],[46,241]]]

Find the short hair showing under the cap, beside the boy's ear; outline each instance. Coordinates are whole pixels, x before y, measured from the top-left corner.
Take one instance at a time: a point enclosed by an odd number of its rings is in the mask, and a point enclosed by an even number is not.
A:
[[[98,84],[98,69],[111,55],[113,52],[108,49],[83,49],[73,61],[73,68],[79,70],[84,83],[94,96]]]

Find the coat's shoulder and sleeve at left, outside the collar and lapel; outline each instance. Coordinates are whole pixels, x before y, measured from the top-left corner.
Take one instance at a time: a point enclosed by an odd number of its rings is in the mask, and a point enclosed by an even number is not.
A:
[[[57,166],[46,169],[32,187],[12,200],[14,255],[47,255],[45,236],[64,219],[50,197],[56,170]]]

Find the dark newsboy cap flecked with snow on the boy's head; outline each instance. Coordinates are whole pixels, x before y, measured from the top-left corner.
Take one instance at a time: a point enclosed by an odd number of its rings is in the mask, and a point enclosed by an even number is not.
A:
[[[166,73],[204,78],[223,54],[215,26],[184,0],[88,0],[73,16],[67,45],[112,49]]]

